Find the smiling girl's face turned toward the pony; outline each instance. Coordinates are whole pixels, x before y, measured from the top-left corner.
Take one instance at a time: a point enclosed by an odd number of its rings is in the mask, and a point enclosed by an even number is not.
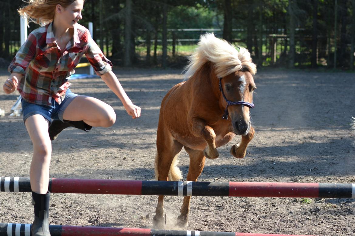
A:
[[[84,0],[76,0],[66,8],[61,5],[56,6],[55,17],[60,21],[60,24],[67,28],[74,28],[74,25],[83,17],[81,11],[83,10]]]

